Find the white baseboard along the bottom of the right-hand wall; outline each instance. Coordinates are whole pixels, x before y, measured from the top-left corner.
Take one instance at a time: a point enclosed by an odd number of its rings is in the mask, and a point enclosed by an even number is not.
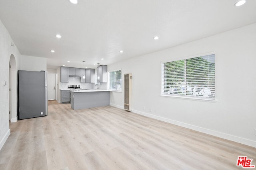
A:
[[[121,106],[118,106],[118,105],[114,105],[114,104],[110,104],[110,105],[113,106],[113,107],[124,109],[124,107],[121,107]],[[210,130],[210,129],[207,129],[207,128],[202,128],[202,127],[198,127],[198,126],[195,126],[195,125],[190,125],[190,124],[179,122],[179,121],[174,121],[174,120],[171,120],[171,119],[167,119],[167,118],[164,118],[164,117],[152,115],[152,114],[149,114],[149,113],[144,113],[144,112],[137,111],[137,110],[132,110],[132,112],[136,113],[136,114],[139,114],[139,115],[146,116],[146,117],[150,117],[150,118],[153,118],[153,119],[157,119],[159,121],[164,121],[164,122],[167,122],[167,123],[178,125],[180,127],[189,128],[189,129],[192,129],[192,130],[196,130],[198,132],[203,132],[203,133],[206,133],[206,134],[210,134],[212,136],[217,136],[217,137],[220,137],[220,138],[224,138],[224,139],[231,140],[231,141],[234,141],[234,142],[238,142],[238,143],[241,143],[241,144],[245,144],[245,145],[248,145],[248,146],[256,147],[256,141],[254,141],[254,140],[241,138],[241,137],[234,136],[234,135],[231,135],[231,134],[226,134],[226,133],[218,132],[218,131],[215,131],[215,130]]]

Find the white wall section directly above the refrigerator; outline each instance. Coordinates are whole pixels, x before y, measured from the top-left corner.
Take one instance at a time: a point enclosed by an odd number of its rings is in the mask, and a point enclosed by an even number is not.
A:
[[[27,71],[41,71],[47,70],[47,59],[43,57],[34,57],[22,55],[20,61],[20,69]]]

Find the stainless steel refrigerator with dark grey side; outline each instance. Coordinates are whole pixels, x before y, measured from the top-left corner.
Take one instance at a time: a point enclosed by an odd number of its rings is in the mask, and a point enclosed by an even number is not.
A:
[[[47,71],[18,71],[18,119],[48,115]]]

